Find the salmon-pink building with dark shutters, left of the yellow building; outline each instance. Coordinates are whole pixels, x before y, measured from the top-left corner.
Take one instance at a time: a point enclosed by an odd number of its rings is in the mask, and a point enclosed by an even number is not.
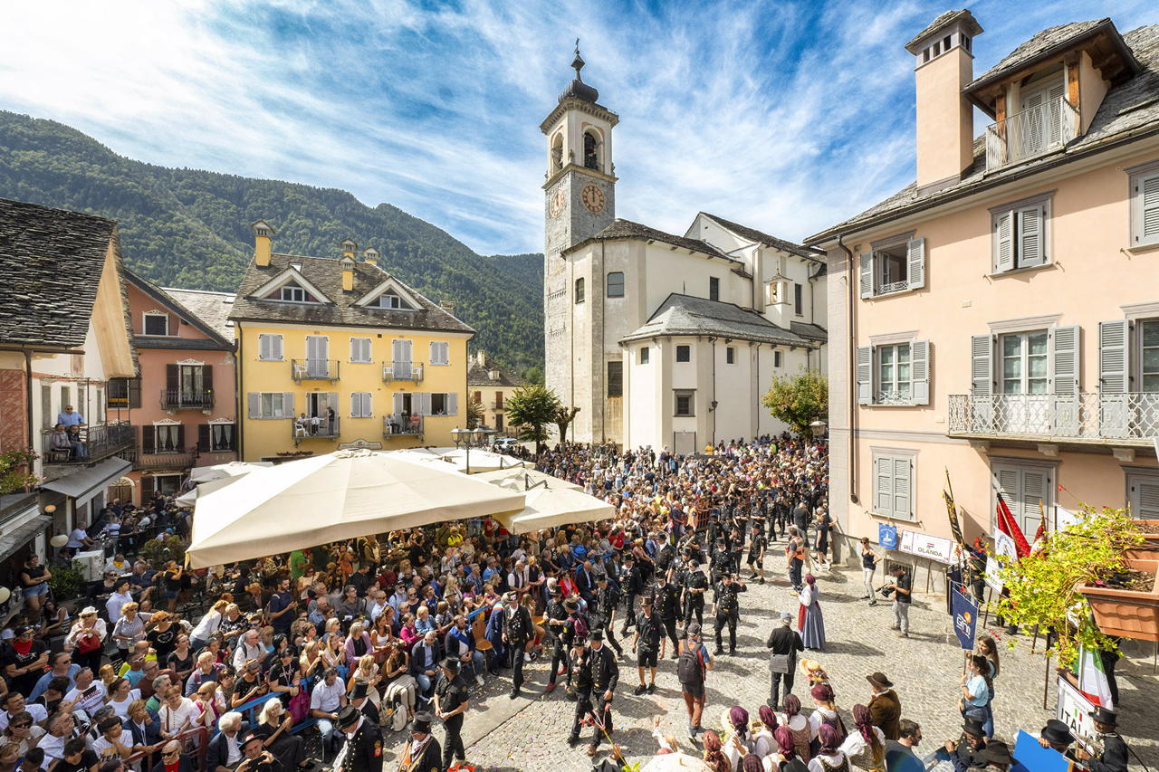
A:
[[[109,497],[140,503],[175,493],[191,467],[238,458],[233,296],[125,279],[140,376],[109,381],[108,410],[131,420],[137,452]]]

